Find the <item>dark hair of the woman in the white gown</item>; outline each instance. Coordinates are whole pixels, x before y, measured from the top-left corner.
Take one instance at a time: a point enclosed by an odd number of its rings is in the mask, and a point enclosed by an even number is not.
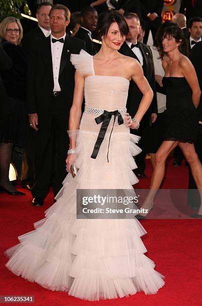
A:
[[[95,29],[95,37],[101,40],[102,36],[106,36],[111,23],[117,22],[121,36],[127,35],[129,28],[123,16],[116,11],[104,12],[98,15],[97,26]]]

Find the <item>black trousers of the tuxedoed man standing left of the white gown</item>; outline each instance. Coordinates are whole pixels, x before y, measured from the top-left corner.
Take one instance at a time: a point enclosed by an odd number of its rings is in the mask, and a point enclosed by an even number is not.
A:
[[[69,138],[67,134],[69,106],[61,94],[52,96],[49,111],[38,114],[38,130],[34,130],[33,197],[45,198],[52,177],[54,196],[66,176],[65,158]]]

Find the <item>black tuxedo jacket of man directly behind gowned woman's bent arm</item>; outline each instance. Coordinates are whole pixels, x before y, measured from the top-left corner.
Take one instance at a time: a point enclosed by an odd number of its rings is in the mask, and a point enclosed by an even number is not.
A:
[[[151,89],[153,90],[153,100],[152,100],[148,110],[144,114],[144,116],[142,118],[142,122],[145,122],[145,123],[148,123],[149,125],[151,125],[151,116],[150,115],[151,115],[151,113],[154,113],[154,112],[157,113],[157,100],[156,100],[156,90],[155,90],[155,77],[154,77],[153,59],[152,59],[151,50],[146,44],[140,43],[139,48],[140,48],[140,51],[141,51],[142,57],[143,57],[143,66],[142,66],[143,73],[144,73],[144,76],[147,79],[149,85],[151,86]],[[129,46],[126,44],[126,42],[124,42],[122,44],[119,52],[122,53],[123,55],[130,56],[130,57],[133,57],[133,58],[138,60],[138,58],[132,52],[132,50],[129,48]],[[126,104],[127,111],[129,112],[129,114],[131,116],[135,115],[135,113],[138,109],[139,103],[141,101],[141,98],[142,98],[141,91],[139,90],[136,83],[133,82],[133,80],[131,80],[130,84],[129,84],[127,104]]]

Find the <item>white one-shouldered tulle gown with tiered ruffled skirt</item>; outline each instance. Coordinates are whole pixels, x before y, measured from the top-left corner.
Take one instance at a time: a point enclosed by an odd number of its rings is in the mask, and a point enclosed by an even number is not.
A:
[[[113,111],[124,109],[129,81],[119,76],[94,75],[93,57],[81,50],[71,62],[85,78],[84,96],[88,107]],[[134,101],[135,102],[135,101]],[[116,298],[144,291],[156,293],[163,275],[144,255],[140,237],[146,233],[133,219],[76,219],[76,188],[126,188],[138,181],[132,156],[140,152],[139,137],[129,133],[117,118],[111,134],[111,118],[95,159],[90,158],[100,124],[97,114],[84,112],[76,139],[75,178],[68,173],[56,202],[45,218],[34,223],[35,230],[18,237],[20,243],[5,251],[6,267],[16,275],[44,288],[66,291],[87,300]]]

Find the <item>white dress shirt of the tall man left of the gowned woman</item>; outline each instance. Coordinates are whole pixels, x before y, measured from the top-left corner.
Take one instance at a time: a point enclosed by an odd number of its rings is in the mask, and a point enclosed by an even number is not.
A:
[[[54,79],[54,88],[53,91],[61,91],[61,88],[59,86],[58,77],[59,77],[59,66],[60,66],[60,59],[61,59],[61,53],[63,49],[63,43],[56,41],[52,42],[52,38],[54,39],[65,39],[66,33],[59,38],[55,38],[50,34],[50,43],[51,43],[51,54],[52,54],[52,71],[53,71],[53,79]]]

